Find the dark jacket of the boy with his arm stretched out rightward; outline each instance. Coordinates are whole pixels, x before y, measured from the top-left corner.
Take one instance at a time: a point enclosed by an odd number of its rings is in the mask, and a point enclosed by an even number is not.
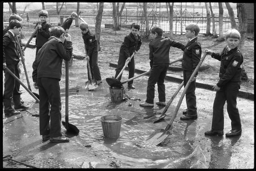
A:
[[[150,67],[153,64],[170,63],[169,51],[170,47],[177,47],[184,51],[185,45],[178,41],[171,40],[168,37],[156,36],[154,40],[149,43],[149,59]]]

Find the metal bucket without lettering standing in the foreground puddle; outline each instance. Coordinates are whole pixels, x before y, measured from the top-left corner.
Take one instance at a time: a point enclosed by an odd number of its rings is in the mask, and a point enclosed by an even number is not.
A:
[[[100,118],[103,135],[109,138],[118,138],[120,136],[123,118],[118,115],[107,115]]]

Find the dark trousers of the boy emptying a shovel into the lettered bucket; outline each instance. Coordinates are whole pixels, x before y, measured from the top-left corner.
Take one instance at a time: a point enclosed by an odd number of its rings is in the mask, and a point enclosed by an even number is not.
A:
[[[123,67],[126,63],[126,59],[127,58],[124,54],[119,54],[118,64],[117,64],[117,68],[116,68],[116,72],[115,72],[115,78],[119,75],[119,73],[123,69]],[[127,66],[129,68],[128,79],[130,79],[130,78],[134,77],[134,73],[135,73],[134,56],[131,59],[131,62],[129,62]],[[120,77],[118,79],[121,81],[121,78],[122,78],[122,74],[120,75]],[[128,84],[133,84],[133,80],[129,81]]]

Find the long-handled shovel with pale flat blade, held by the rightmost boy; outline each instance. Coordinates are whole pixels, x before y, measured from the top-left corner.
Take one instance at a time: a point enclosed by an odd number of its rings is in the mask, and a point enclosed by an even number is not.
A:
[[[187,91],[187,89],[188,89],[192,79],[195,77],[196,72],[198,71],[199,67],[201,66],[202,62],[204,61],[205,57],[206,57],[206,53],[204,53],[204,56],[202,57],[202,59],[198,63],[198,65],[197,65],[195,71],[193,72],[193,74],[191,75],[191,77],[189,78],[188,83],[186,84],[186,86],[185,86],[185,88],[184,88],[184,90],[182,92],[182,95],[180,96],[178,105],[175,108],[175,114],[171,117],[171,119],[170,119],[168,125],[166,126],[166,128],[165,129],[157,129],[157,130],[155,130],[150,135],[150,137],[148,139],[146,139],[146,142],[149,142],[149,143],[152,143],[154,145],[157,145],[157,144],[161,143],[165,138],[168,137],[168,135],[170,134],[170,132],[168,130],[172,126],[172,123],[173,123],[173,121],[174,121],[174,119],[175,119],[175,117],[176,117],[176,115],[178,113],[179,107],[180,107],[180,105],[182,103],[182,100],[183,100],[183,98],[185,96],[185,93],[186,93],[186,91]]]

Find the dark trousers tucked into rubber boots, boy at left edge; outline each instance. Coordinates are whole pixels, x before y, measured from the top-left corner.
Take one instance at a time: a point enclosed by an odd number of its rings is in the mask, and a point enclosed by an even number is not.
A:
[[[8,65],[6,67],[12,71],[12,73],[19,79],[18,64]],[[13,78],[6,70],[4,70],[5,82],[4,82],[4,94],[3,99],[12,99],[13,95],[20,95],[22,92],[19,90],[20,83]]]

